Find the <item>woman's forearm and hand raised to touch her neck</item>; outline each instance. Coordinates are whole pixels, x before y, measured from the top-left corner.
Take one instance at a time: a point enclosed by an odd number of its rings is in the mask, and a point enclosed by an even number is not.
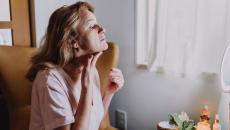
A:
[[[87,67],[82,72],[82,89],[73,124],[61,126],[55,130],[88,130],[93,99],[93,69],[101,53],[88,59]]]

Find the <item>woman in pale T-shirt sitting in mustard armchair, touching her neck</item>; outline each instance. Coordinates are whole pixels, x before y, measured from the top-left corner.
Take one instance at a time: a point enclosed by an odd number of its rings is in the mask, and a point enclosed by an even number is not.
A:
[[[93,7],[77,2],[50,17],[44,45],[32,57],[30,130],[98,130],[110,101],[124,84],[112,68],[103,97],[95,64],[108,48]]]

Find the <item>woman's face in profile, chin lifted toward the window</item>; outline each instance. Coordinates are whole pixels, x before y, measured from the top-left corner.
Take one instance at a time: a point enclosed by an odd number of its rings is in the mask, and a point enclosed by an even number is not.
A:
[[[96,17],[92,12],[86,9],[81,11],[77,29],[80,34],[79,47],[86,54],[101,52],[108,48],[105,30],[97,23]]]

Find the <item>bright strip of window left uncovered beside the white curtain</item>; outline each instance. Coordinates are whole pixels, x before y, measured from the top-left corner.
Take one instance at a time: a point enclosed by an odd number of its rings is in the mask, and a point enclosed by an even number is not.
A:
[[[136,64],[148,64],[148,46],[154,41],[156,18],[156,0],[136,0],[136,19],[135,19],[135,41],[136,41]],[[150,13],[151,12],[151,13]],[[150,29],[151,28],[151,29]],[[153,32],[151,32],[153,31]],[[151,34],[153,34],[151,36]]]

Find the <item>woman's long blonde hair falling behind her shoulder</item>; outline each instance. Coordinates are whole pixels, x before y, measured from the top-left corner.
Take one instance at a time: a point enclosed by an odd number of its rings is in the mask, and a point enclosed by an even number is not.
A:
[[[94,12],[94,8],[87,2],[76,2],[70,6],[63,6],[53,12],[49,19],[44,45],[31,58],[31,68],[26,77],[33,81],[41,69],[63,67],[74,56],[72,42],[77,37],[77,20],[81,9]]]

